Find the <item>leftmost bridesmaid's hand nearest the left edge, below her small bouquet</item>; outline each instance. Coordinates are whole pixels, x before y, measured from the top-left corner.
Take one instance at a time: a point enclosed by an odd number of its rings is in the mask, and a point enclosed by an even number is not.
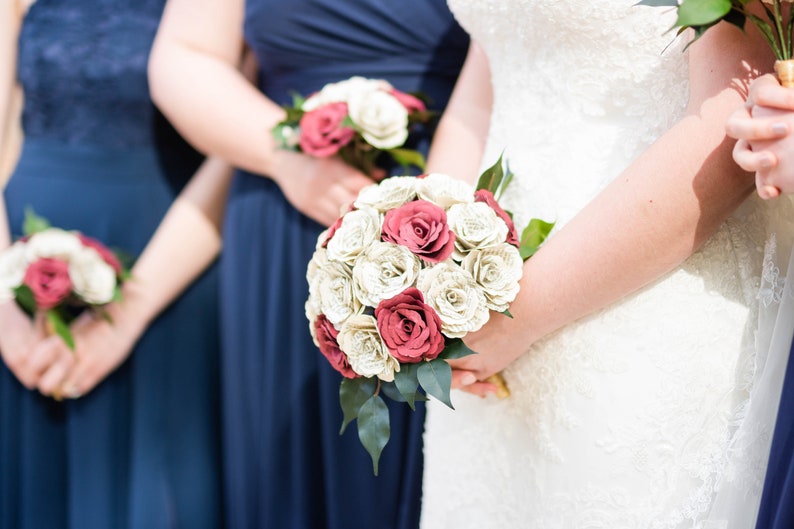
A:
[[[0,355],[15,377],[28,389],[38,384],[51,360],[33,351],[44,340],[42,321],[33,322],[13,301],[0,304]]]

